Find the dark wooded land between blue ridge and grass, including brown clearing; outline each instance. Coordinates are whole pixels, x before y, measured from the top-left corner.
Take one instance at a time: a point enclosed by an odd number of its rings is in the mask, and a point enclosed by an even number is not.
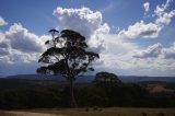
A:
[[[74,84],[78,107],[175,107],[175,83],[124,83],[117,76],[112,82],[95,78],[92,82]],[[0,80],[1,109],[70,107],[69,94],[69,84],[55,80]]]

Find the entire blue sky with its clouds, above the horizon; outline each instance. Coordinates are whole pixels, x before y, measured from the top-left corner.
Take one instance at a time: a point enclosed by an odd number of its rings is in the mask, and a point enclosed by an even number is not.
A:
[[[84,35],[95,72],[175,77],[175,0],[0,0],[0,76],[36,73],[50,28]]]

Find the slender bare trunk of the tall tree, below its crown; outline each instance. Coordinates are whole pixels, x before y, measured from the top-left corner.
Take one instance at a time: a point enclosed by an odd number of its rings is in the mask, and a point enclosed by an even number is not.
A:
[[[74,98],[74,91],[73,91],[73,81],[70,81],[70,95],[71,95],[71,107],[77,107],[77,102]]]

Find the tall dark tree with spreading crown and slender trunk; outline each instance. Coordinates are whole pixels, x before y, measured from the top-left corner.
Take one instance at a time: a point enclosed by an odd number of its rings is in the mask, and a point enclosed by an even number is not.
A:
[[[67,79],[70,85],[71,106],[77,106],[73,95],[73,82],[75,78],[86,71],[94,71],[92,61],[100,58],[98,54],[88,51],[85,37],[80,33],[63,30],[50,30],[52,39],[45,44],[50,47],[40,56],[38,62],[46,63],[37,69],[39,73],[60,74]]]

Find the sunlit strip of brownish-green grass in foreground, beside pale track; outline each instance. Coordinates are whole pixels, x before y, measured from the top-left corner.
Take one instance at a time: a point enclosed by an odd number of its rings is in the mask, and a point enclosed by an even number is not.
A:
[[[24,112],[24,111],[23,111]],[[55,108],[25,112],[47,113],[54,116],[175,116],[175,108]],[[1,115],[0,116],[13,116]]]

